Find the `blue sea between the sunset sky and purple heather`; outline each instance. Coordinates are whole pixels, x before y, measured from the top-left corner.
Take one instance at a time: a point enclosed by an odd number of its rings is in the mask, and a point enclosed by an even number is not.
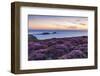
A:
[[[43,34],[49,33],[49,34]],[[29,30],[28,34],[32,34],[39,40],[64,37],[88,36],[87,30]]]

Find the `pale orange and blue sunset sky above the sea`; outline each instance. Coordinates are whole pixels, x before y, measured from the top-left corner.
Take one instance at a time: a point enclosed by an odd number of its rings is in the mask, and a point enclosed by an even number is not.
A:
[[[75,16],[28,15],[31,30],[87,30],[88,18]]]

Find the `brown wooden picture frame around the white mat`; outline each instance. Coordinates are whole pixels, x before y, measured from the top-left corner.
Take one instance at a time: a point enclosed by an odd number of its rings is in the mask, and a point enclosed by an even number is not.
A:
[[[20,8],[25,7],[43,7],[43,8],[60,8],[60,9],[79,9],[94,11],[94,65],[78,66],[78,67],[61,67],[61,68],[45,68],[45,69],[20,69]],[[73,71],[97,69],[97,7],[93,6],[77,6],[77,5],[61,5],[47,3],[28,3],[13,2],[11,3],[11,72],[15,74],[23,73],[39,73],[39,72],[57,72],[57,71]]]

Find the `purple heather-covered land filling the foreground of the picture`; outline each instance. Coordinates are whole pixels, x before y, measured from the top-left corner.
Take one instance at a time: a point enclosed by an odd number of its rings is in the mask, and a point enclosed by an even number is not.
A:
[[[28,60],[88,58],[87,47],[87,36],[45,40],[38,40],[36,37],[31,37],[28,39]]]

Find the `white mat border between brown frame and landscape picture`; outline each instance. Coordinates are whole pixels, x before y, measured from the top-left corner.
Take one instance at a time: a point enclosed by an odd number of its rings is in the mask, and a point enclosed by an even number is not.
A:
[[[66,14],[65,14],[66,13]],[[88,58],[28,61],[28,14],[88,17]],[[94,65],[94,11],[41,7],[20,8],[20,69],[43,69]],[[42,64],[42,65],[41,65]]]

